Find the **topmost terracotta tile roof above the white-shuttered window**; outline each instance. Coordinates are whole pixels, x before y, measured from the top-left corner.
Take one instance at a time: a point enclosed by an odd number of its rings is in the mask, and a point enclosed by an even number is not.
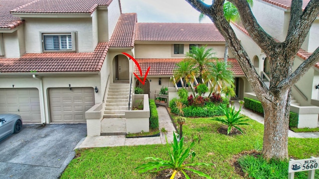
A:
[[[98,5],[112,0],[33,0],[16,6],[11,13],[93,13]]]

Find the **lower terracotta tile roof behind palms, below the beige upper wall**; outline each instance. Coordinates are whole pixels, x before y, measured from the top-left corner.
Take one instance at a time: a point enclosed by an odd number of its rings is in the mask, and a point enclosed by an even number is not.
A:
[[[173,70],[176,68],[176,64],[182,61],[182,58],[173,58],[173,59],[136,59],[142,69],[143,75],[147,71],[149,67],[150,72],[148,76],[160,76],[160,75],[173,75]],[[235,58],[229,58],[228,64],[231,66],[230,70],[234,72],[235,76],[244,76],[244,72],[242,71],[239,63]],[[134,67],[134,72],[136,74],[140,74],[137,66]]]

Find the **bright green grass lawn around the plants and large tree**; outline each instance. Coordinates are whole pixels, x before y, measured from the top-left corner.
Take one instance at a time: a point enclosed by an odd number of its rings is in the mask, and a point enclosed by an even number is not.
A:
[[[217,132],[222,124],[208,118],[187,118],[183,125],[186,145],[191,136],[200,133],[201,141],[196,143],[196,157],[193,163],[214,163],[216,167],[196,168],[214,179],[240,179],[234,172],[231,160],[234,155],[256,148],[262,144],[263,125],[250,120],[252,126],[241,126],[244,135],[225,136]],[[319,139],[289,139],[289,155],[297,158],[319,156]],[[147,145],[132,147],[106,147],[77,150],[77,158],[73,159],[65,169],[61,179],[154,179],[155,174],[138,174],[136,167],[146,163],[146,157],[168,159],[166,145]],[[187,161],[187,160],[186,160]],[[288,168],[283,171],[287,173]],[[198,176],[190,176],[198,179]]]

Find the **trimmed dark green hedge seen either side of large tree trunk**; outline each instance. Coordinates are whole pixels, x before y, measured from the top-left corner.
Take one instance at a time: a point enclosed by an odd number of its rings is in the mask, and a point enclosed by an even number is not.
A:
[[[263,106],[259,100],[255,100],[252,98],[244,97],[244,107],[247,109],[251,109],[255,112],[264,114]],[[298,126],[298,113],[290,112],[289,113],[289,127],[297,127]]]

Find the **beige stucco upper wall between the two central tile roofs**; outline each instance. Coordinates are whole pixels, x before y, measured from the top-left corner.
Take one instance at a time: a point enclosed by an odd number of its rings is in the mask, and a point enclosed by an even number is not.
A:
[[[189,43],[189,42],[188,42]],[[184,58],[186,52],[189,51],[189,44],[176,42],[176,43],[155,43],[154,44],[135,44],[135,58]],[[174,44],[184,44],[184,54],[173,54]],[[195,42],[192,44],[196,44]],[[201,44],[199,46],[202,46]],[[223,58],[225,51],[225,44],[209,44],[206,47],[213,48],[212,52],[216,52],[215,57]],[[230,52],[229,57],[234,57]]]

